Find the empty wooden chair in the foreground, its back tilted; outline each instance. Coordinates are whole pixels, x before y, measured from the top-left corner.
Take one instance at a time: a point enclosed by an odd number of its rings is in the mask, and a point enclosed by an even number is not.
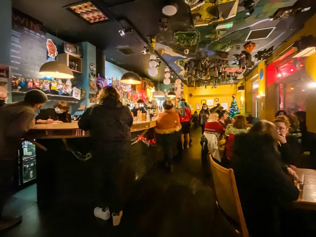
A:
[[[243,237],[248,237],[248,229],[241,209],[234,171],[217,164],[211,155],[209,157],[218,210],[236,232]]]

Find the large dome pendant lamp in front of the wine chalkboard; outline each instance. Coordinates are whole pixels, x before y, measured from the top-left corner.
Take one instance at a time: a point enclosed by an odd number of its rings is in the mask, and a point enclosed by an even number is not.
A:
[[[43,64],[39,71],[42,76],[49,76],[60,79],[74,78],[74,74],[66,64],[51,61]]]

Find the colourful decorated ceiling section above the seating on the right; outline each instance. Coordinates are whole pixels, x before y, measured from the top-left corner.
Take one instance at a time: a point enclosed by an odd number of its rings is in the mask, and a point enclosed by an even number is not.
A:
[[[161,31],[155,47],[188,86],[238,83],[295,33],[295,19],[310,10],[297,0],[185,2],[192,24],[185,31],[170,24],[172,37]]]

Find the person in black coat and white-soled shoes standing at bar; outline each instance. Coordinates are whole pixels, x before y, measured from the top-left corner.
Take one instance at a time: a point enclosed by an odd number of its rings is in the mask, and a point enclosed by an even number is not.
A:
[[[94,173],[100,189],[100,203],[94,209],[94,216],[107,220],[111,211],[114,226],[119,225],[123,215],[133,125],[130,109],[119,99],[115,88],[102,88],[98,96],[100,103],[89,107],[78,122],[80,129],[90,131],[92,158],[96,163]]]

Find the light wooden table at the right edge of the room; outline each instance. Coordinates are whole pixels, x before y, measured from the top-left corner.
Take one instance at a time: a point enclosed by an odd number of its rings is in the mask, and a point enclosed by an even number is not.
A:
[[[316,170],[292,168],[301,177],[305,175],[303,194],[294,202],[296,208],[316,210]]]

